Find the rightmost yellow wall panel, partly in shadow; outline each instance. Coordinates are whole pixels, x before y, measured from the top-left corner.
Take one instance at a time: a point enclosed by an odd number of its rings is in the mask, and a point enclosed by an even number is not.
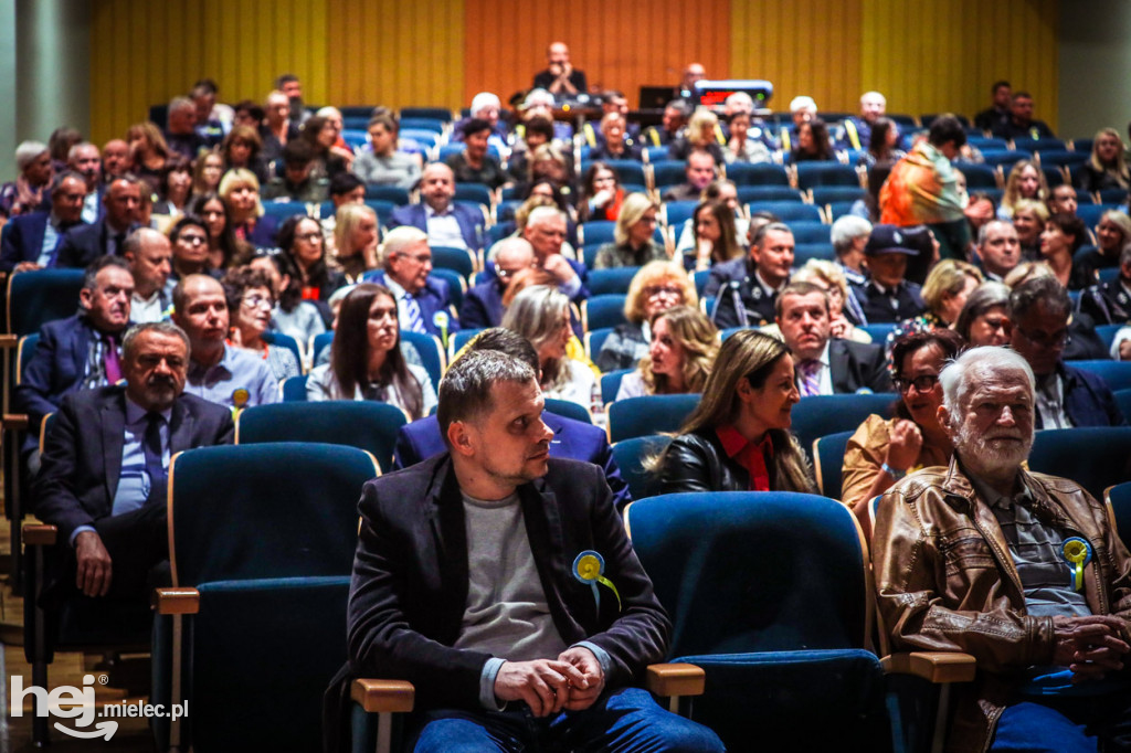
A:
[[[973,115],[1001,78],[1056,130],[1059,0],[862,0],[862,84],[891,112]]]

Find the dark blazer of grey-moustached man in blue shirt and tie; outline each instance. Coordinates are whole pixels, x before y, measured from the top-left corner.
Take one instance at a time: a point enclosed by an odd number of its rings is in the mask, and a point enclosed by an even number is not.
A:
[[[182,450],[231,444],[232,412],[192,395],[173,404],[169,421],[170,457]],[[35,514],[59,526],[69,540],[113,510],[126,442],[126,388],[101,387],[69,395],[43,450],[34,486]]]

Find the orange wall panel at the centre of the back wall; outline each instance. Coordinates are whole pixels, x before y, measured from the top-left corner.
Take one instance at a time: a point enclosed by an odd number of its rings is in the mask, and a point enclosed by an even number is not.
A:
[[[632,107],[641,85],[674,86],[689,62],[731,73],[728,2],[465,0],[465,106],[478,92],[506,101],[529,88],[554,41],[570,46],[590,88],[621,89]]]

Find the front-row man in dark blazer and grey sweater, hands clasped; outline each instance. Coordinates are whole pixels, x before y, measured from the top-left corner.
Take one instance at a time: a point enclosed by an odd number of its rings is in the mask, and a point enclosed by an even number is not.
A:
[[[542,407],[529,365],[465,355],[440,386],[450,452],[365,484],[349,660],[328,701],[351,673],[412,682],[417,752],[486,750],[497,735],[513,750],[573,736],[592,750],[723,750],[632,687],[665,655],[667,615],[602,471],[550,458]]]

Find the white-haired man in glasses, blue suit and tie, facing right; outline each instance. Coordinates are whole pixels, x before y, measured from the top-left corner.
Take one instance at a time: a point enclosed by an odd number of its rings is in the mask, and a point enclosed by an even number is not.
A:
[[[448,332],[459,329],[459,321],[451,313],[448,283],[429,277],[432,251],[428,245],[428,235],[422,230],[406,226],[392,228],[381,244],[385,269],[369,275],[366,279],[385,285],[392,293],[400,329],[447,338]],[[442,320],[437,317],[439,313],[443,314]]]

